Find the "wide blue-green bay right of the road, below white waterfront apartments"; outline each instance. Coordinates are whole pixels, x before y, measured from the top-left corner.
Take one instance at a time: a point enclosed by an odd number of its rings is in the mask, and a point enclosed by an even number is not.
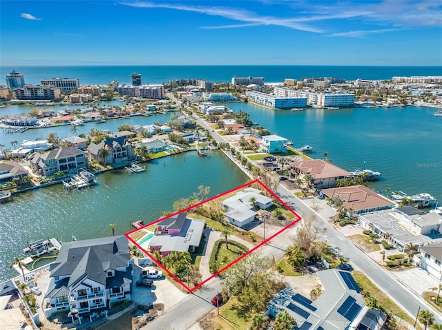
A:
[[[249,112],[251,121],[296,148],[311,145],[312,158],[324,159],[327,152],[347,171],[381,172],[381,180],[369,183],[381,194],[426,192],[442,203],[442,117],[432,107],[275,111],[252,103],[225,105]]]

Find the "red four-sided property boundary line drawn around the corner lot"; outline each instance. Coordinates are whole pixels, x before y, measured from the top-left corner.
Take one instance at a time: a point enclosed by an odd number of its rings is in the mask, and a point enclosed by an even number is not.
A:
[[[267,190],[267,192],[269,192],[269,194],[271,194],[271,196],[273,196],[273,198],[275,198],[276,200],[278,200],[279,203],[281,203],[286,209],[289,210],[289,212],[291,212],[292,214],[294,214],[294,216],[296,216],[295,220],[292,223],[289,223],[289,225],[287,225],[286,227],[280,229],[280,231],[276,232],[276,234],[273,234],[272,236],[270,236],[269,238],[267,238],[266,240],[263,240],[262,243],[256,245],[256,247],[253,247],[253,249],[249,250],[246,254],[243,254],[242,256],[240,256],[238,259],[233,260],[231,263],[229,263],[229,265],[222,267],[222,269],[218,270],[215,274],[213,274],[212,276],[210,276],[209,278],[206,278],[205,280],[203,280],[199,285],[197,285],[196,287],[193,287],[192,289],[190,289],[187,285],[184,284],[184,282],[182,282],[182,280],[180,280],[179,278],[177,278],[177,276],[175,276],[174,274],[172,274],[171,271],[169,271],[169,269],[166,269],[166,267],[164,267],[162,265],[161,262],[158,262],[158,260],[156,260],[153,255],[146,251],[145,249],[143,249],[140,245],[138,245],[138,243],[135,242],[135,240],[133,240],[133,238],[130,237],[131,234],[133,234],[135,231],[139,231],[144,227],[148,227],[151,225],[155,225],[155,223],[159,223],[162,220],[166,220],[167,218],[170,218],[171,216],[175,216],[176,214],[180,214],[182,212],[187,212],[189,211],[189,209],[193,209],[194,207],[198,207],[204,203],[208,203],[211,200],[214,200],[216,198],[220,198],[221,196],[224,196],[226,194],[230,194],[231,192],[235,192],[236,190],[242,189],[244,187],[248,187],[249,185],[253,185],[254,183],[258,183],[258,185],[260,185],[262,188],[264,188],[265,190]],[[184,289],[186,289],[189,292],[193,292],[196,289],[198,289],[199,287],[201,287],[202,285],[204,285],[204,283],[209,282],[209,280],[211,280],[212,278],[214,278],[215,276],[220,275],[223,271],[225,271],[226,269],[228,269],[229,267],[231,267],[232,265],[234,265],[236,262],[240,261],[242,258],[249,256],[249,254],[251,254],[253,251],[256,251],[256,249],[259,249],[260,247],[262,247],[262,245],[267,244],[270,240],[272,240],[273,238],[275,238],[276,236],[278,236],[279,234],[282,233],[282,231],[285,231],[287,229],[289,229],[289,227],[293,226],[295,223],[298,223],[298,221],[301,220],[301,217],[294,212],[293,209],[291,209],[281,198],[279,198],[278,196],[276,196],[276,194],[274,194],[268,187],[266,187],[261,181],[254,180],[251,181],[249,183],[245,183],[244,185],[241,185],[240,187],[236,187],[233,188],[231,190],[229,190],[228,192],[224,192],[223,194],[218,194],[215,197],[209,198],[208,200],[204,200],[198,204],[195,204],[191,207],[187,207],[186,209],[182,209],[181,211],[175,212],[173,214],[170,214],[169,216],[165,216],[164,218],[160,218],[158,220],[153,221],[153,223],[149,223],[148,225],[144,225],[141,228],[136,228],[133,229],[131,231],[128,231],[126,234],[124,234],[124,236],[126,236],[126,238],[128,238],[128,240],[130,240],[135,246],[137,246],[139,249],[141,249],[147,256],[149,256],[157,265],[159,265],[164,271],[167,272],[167,274],[169,274],[170,276],[172,276],[172,278],[174,280],[176,280],[178,283],[180,283],[180,285],[182,285],[182,287],[184,287]]]

